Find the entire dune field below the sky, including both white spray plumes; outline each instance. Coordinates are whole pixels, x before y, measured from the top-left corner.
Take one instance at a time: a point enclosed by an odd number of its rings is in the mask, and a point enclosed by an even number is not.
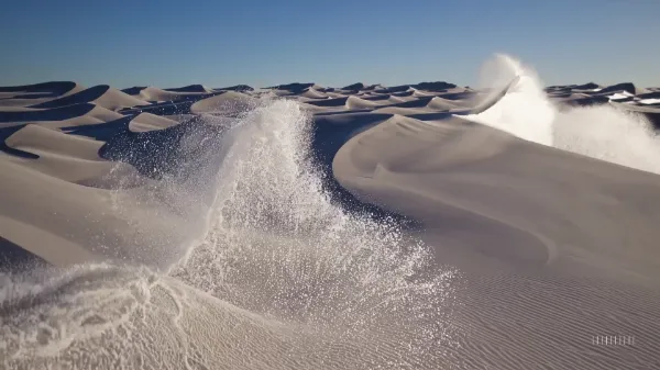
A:
[[[660,368],[660,89],[481,79],[0,87],[0,368]]]

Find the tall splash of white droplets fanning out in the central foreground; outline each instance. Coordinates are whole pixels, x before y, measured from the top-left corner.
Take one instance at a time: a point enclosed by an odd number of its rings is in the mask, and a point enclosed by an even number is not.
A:
[[[361,350],[380,343],[386,362],[424,365],[447,335],[441,307],[451,272],[425,271],[430,255],[392,221],[331,202],[309,165],[310,130],[290,101],[245,119],[220,170],[209,238],[174,274],[251,312],[305,325],[329,341],[327,350],[366,336]]]

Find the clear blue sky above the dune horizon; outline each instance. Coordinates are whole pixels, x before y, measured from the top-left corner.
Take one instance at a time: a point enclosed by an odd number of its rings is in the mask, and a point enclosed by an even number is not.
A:
[[[497,52],[548,85],[660,86],[660,0],[8,0],[0,14],[0,86],[464,86]]]

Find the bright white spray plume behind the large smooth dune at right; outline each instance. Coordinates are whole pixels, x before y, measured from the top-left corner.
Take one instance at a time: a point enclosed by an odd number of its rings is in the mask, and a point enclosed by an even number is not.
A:
[[[660,139],[641,114],[609,104],[559,109],[534,69],[507,55],[484,64],[482,85],[497,91],[516,77],[495,105],[465,117],[530,142],[660,173]]]

